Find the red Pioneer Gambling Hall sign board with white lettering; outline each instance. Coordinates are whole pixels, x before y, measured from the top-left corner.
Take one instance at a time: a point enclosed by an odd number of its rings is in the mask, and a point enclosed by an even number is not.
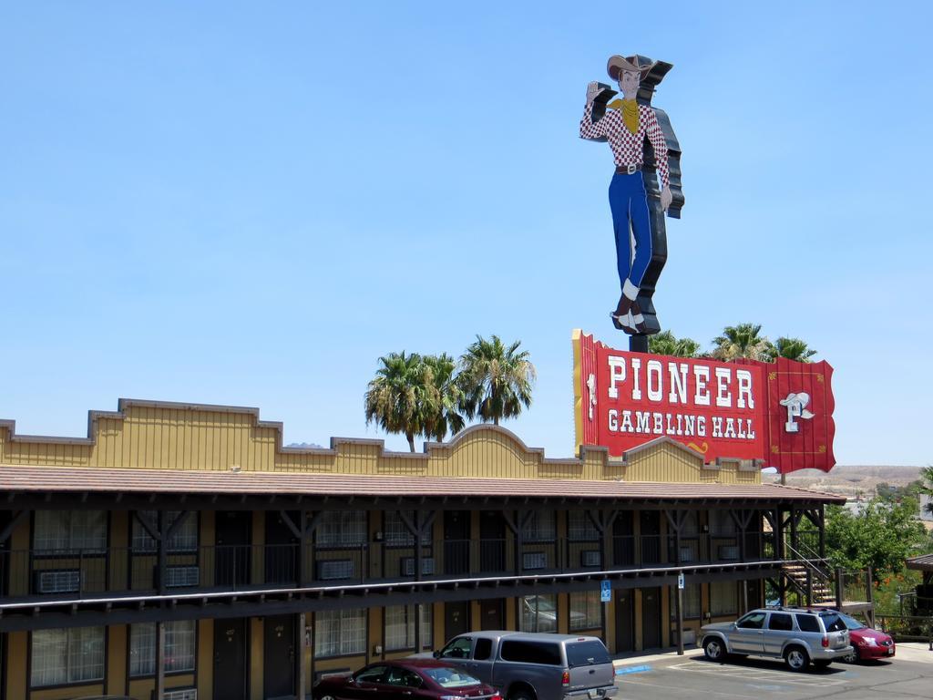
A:
[[[826,362],[667,357],[574,340],[578,444],[609,455],[661,437],[703,455],[760,460],[780,471],[835,464]]]

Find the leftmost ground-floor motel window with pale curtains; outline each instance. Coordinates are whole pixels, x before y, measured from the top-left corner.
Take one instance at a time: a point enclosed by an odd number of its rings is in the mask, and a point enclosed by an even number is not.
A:
[[[104,627],[44,629],[33,633],[33,688],[104,679]]]

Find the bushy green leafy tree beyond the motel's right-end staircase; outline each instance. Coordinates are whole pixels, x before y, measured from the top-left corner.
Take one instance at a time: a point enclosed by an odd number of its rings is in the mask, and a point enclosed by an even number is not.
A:
[[[829,559],[837,567],[871,567],[878,579],[898,574],[904,560],[926,544],[926,528],[916,519],[917,512],[917,502],[911,498],[899,503],[872,498],[856,513],[830,506],[826,528]]]

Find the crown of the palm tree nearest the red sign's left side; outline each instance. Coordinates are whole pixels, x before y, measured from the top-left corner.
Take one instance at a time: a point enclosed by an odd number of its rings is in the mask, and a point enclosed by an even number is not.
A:
[[[535,365],[527,351],[519,352],[521,344],[516,341],[507,347],[496,335],[491,341],[478,335],[476,343],[466,348],[458,383],[463,391],[461,408],[468,417],[479,415],[484,423],[493,421],[497,426],[531,405]]]

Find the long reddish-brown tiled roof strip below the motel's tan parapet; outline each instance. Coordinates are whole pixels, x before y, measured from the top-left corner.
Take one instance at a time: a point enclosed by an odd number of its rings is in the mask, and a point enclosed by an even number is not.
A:
[[[0,492],[236,494],[328,497],[534,497],[695,501],[741,499],[844,503],[777,484],[473,479],[306,472],[183,471],[0,466]]]

